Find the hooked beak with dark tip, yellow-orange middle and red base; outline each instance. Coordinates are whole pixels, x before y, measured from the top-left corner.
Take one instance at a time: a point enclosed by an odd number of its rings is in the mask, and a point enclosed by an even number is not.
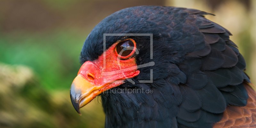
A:
[[[127,77],[132,78],[139,73],[140,71],[137,70]],[[81,115],[80,108],[91,102],[100,93],[123,84],[124,80],[125,77],[121,73],[102,72],[91,61],[86,61],[70,87],[70,99],[73,107]]]

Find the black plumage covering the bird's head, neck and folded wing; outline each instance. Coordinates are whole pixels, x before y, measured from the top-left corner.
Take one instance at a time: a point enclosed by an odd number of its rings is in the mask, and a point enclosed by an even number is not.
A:
[[[106,128],[166,127],[210,128],[220,121],[228,105],[245,106],[248,95],[241,84],[250,81],[231,33],[207,20],[210,13],[195,9],[139,6],[115,12],[89,34],[81,62],[97,60],[103,53],[103,33],[152,33],[153,59],[148,36],[106,36],[106,48],[118,40],[137,43],[137,65],[132,78],[114,89],[151,89],[153,93],[101,93]],[[153,69],[153,83],[148,80]]]

